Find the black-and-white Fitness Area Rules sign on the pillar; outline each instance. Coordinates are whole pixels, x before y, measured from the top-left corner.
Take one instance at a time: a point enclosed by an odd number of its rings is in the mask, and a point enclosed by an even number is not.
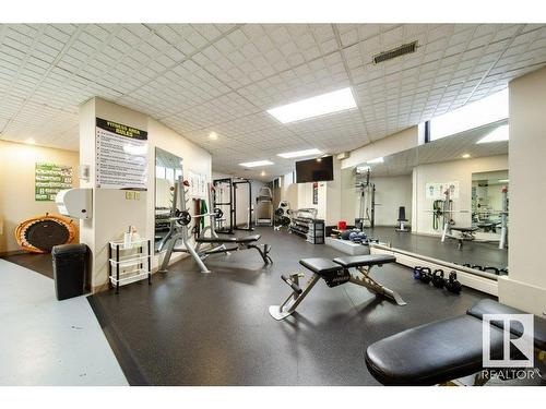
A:
[[[96,187],[146,190],[147,132],[96,119]]]

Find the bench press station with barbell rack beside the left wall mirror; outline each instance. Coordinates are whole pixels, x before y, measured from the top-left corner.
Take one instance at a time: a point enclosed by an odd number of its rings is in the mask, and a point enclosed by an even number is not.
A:
[[[173,207],[176,209],[177,197],[180,195],[180,203],[182,206],[186,206],[186,182],[180,179],[177,183],[175,183],[175,192],[173,200]],[[210,188],[210,187],[209,187]],[[211,202],[211,190],[209,189],[209,203]],[[201,218],[201,217],[210,217],[210,224],[206,226],[203,231],[195,238],[195,246],[192,246],[189,243],[190,233],[189,233],[189,224],[191,222],[192,217]],[[260,253],[260,256],[263,260],[264,264],[273,263],[271,260],[269,252],[271,251],[270,244],[258,244],[257,242],[260,240],[260,234],[251,234],[246,237],[218,237],[215,231],[215,220],[216,218],[222,217],[222,212],[215,210],[212,213],[205,213],[201,215],[191,216],[189,212],[183,210],[180,212],[177,217],[170,218],[171,228],[169,234],[166,237],[165,243],[167,245],[167,251],[163,257],[162,265],[159,267],[159,272],[166,273],[168,270],[168,265],[170,257],[174,252],[183,252],[189,253],[195,263],[198,263],[201,273],[211,273],[211,270],[206,267],[203,260],[211,254],[217,253],[229,253],[230,251],[238,250],[247,250],[254,249]],[[206,237],[206,231],[210,230],[210,237]],[[175,232],[176,231],[176,232]],[[181,241],[183,248],[176,248],[176,244]],[[217,244],[212,249],[201,249],[203,244]],[[227,248],[226,244],[233,244]]]

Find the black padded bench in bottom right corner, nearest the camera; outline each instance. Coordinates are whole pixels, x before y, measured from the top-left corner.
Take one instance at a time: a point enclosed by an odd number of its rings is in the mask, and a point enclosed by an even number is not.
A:
[[[524,314],[492,300],[482,300],[466,315],[406,329],[370,345],[366,350],[368,370],[383,385],[437,385],[475,375],[475,384],[488,381],[483,366],[484,314]],[[514,321],[511,335],[521,337]],[[490,354],[502,357],[506,334],[500,322],[491,322]],[[546,320],[534,316],[534,347],[544,360]]]

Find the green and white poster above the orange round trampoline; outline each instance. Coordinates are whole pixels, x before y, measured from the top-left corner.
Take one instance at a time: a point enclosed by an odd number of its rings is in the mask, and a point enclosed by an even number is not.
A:
[[[55,202],[61,190],[72,188],[72,167],[37,163],[34,177],[34,200]]]

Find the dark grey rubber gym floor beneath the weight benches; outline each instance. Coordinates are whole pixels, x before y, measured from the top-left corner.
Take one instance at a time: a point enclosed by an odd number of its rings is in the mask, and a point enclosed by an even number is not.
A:
[[[391,264],[372,276],[397,290],[407,305],[352,284],[329,288],[321,280],[297,314],[277,322],[268,308],[289,293],[281,274],[304,272],[299,258],[341,254],[271,228],[257,231],[272,245],[271,266],[247,250],[209,257],[214,273],[204,275],[188,258],[155,274],[152,286],[139,282],[119,296],[90,298],[131,384],[377,385],[364,362],[368,345],[463,314],[487,297],[466,288],[460,296],[438,290]]]

